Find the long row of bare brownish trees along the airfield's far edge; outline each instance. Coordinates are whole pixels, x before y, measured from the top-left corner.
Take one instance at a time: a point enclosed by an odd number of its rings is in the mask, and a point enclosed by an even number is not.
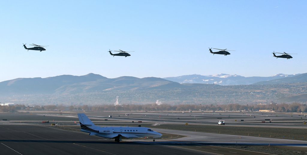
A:
[[[108,105],[35,105],[25,106],[16,104],[0,106],[0,112],[24,111],[259,111],[274,110],[275,112],[307,112],[307,105],[301,103],[291,104],[123,104]]]

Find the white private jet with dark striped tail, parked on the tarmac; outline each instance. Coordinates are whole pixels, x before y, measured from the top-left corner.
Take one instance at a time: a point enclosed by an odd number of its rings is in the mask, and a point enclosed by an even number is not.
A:
[[[115,139],[120,142],[122,138],[141,138],[149,137],[160,138],[162,134],[147,127],[98,127],[85,115],[78,114],[81,131],[89,133],[90,136],[99,136],[103,138]]]

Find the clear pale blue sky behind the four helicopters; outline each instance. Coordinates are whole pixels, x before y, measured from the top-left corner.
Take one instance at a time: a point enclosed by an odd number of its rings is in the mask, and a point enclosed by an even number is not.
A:
[[[306,6],[274,0],[1,1],[0,81],[88,73],[305,73]],[[27,51],[22,43],[49,47]],[[212,55],[208,47],[236,51]],[[109,49],[135,52],[113,57]],[[276,59],[273,51],[298,55]]]

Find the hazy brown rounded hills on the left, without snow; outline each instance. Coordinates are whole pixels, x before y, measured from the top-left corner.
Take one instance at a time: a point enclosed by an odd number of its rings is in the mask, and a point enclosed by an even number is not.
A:
[[[162,78],[106,78],[98,74],[60,75],[49,78],[17,78],[0,82],[1,95],[90,93],[107,90],[184,88]]]

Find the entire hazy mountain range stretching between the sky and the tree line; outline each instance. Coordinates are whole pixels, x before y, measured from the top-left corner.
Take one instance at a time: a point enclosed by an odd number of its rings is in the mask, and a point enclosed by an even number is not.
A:
[[[176,78],[185,79],[183,81],[186,83],[170,81]],[[125,104],[155,103],[157,100],[170,104],[246,104],[266,103],[272,100],[307,102],[307,73],[277,74],[271,77],[194,74],[176,78],[130,76],[106,78],[93,73],[83,76],[17,78],[0,82],[0,102],[28,105],[95,105],[113,104],[117,96],[119,96],[119,102]],[[208,79],[211,82],[219,80],[222,82],[216,84],[190,83],[192,81],[188,79],[193,79],[193,82]],[[243,85],[244,83],[250,85]]]

